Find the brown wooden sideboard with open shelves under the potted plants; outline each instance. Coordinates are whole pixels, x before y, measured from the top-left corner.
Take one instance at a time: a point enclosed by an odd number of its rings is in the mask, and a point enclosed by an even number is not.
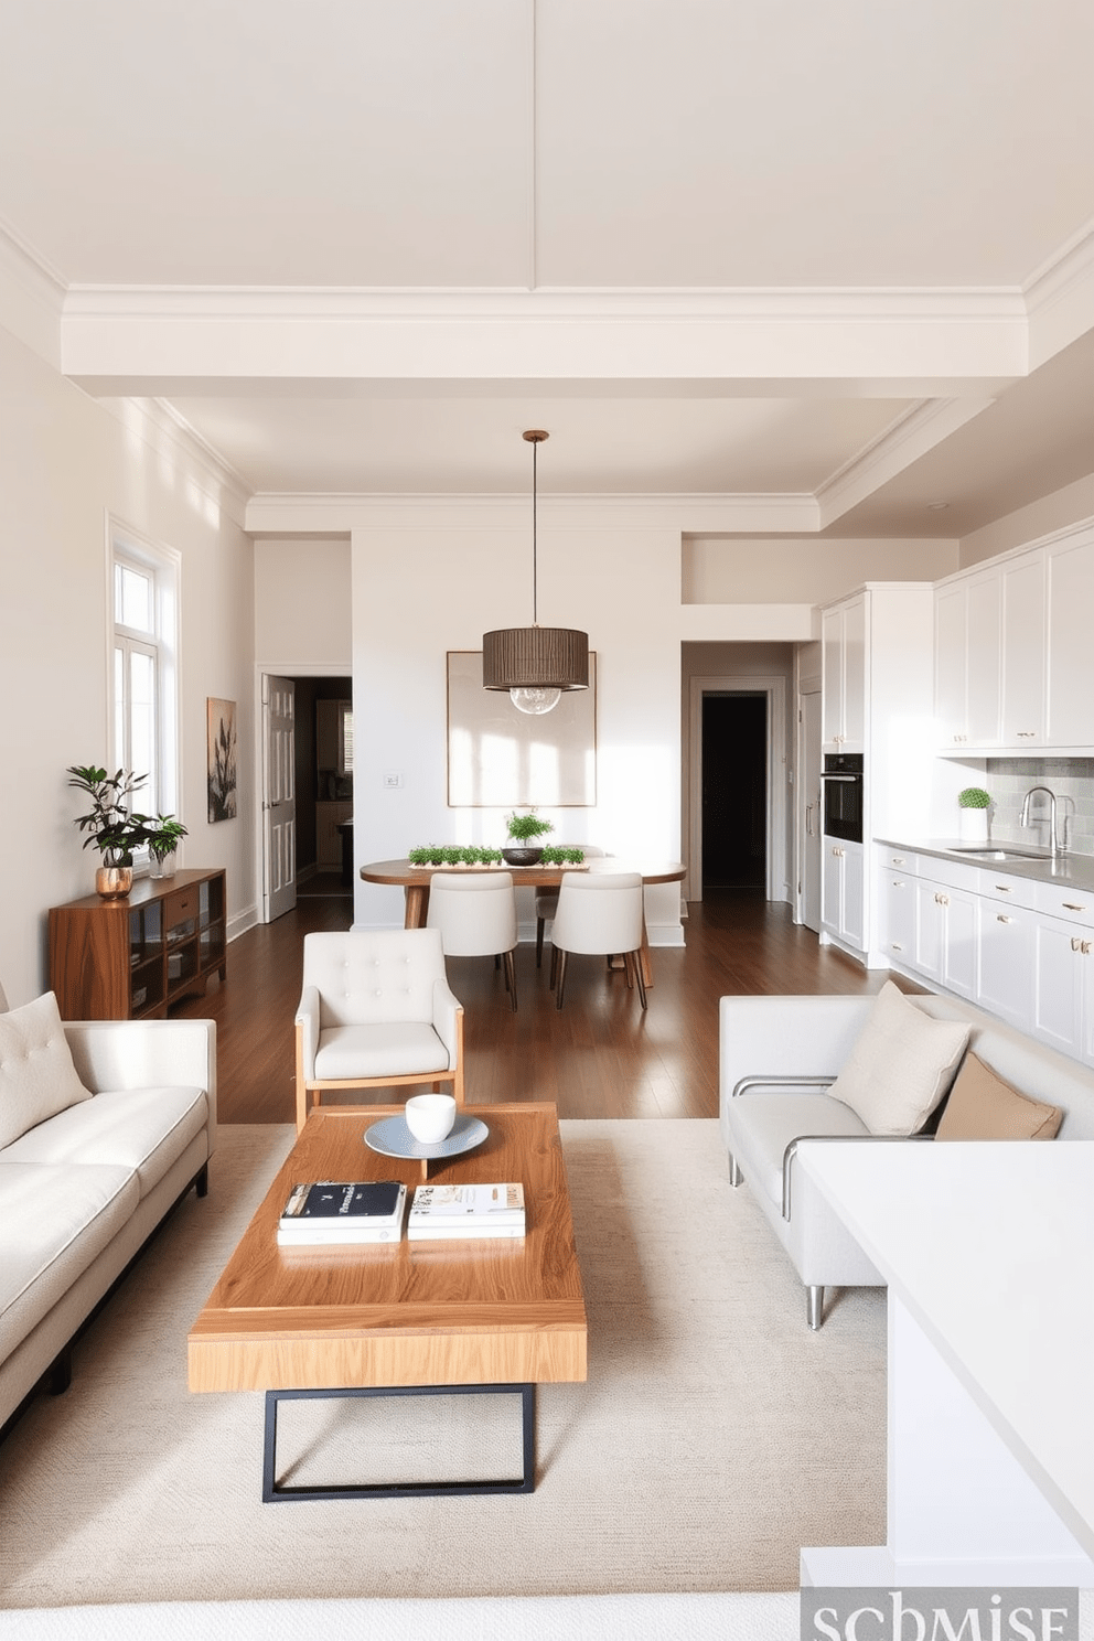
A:
[[[49,986],[66,1021],[162,1019],[226,975],[225,873],[141,878],[130,894],[49,909]]]

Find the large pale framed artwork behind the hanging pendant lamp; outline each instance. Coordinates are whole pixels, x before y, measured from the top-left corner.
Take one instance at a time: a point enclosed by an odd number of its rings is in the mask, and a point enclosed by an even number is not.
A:
[[[597,658],[589,688],[568,691],[551,712],[518,712],[482,688],[482,651],[448,651],[448,804],[453,809],[545,809],[597,801]]]

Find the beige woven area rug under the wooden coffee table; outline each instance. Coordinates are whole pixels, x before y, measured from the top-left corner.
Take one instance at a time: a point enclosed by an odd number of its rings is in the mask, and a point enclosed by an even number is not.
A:
[[[795,1590],[802,1544],[884,1543],[884,1293],[810,1332],[699,1119],[563,1122],[589,1382],[538,1392],[535,1493],[262,1505],[264,1398],[190,1395],[185,1341],[292,1132],[221,1127],[208,1198],[0,1447],[0,1607]],[[294,1405],[285,1479],[459,1469],[482,1433],[515,1474],[517,1398],[408,1400]]]

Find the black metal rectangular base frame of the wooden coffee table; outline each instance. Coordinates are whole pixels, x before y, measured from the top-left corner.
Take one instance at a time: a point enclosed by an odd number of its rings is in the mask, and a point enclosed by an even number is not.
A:
[[[520,1396],[523,1475],[513,1482],[379,1482],[340,1487],[282,1487],[277,1482],[279,1401],[328,1401],[340,1396]],[[536,1485],[536,1387],[535,1385],[392,1385],[348,1390],[267,1390],[266,1447],[262,1454],[262,1503],[305,1498],[443,1498],[456,1493],[531,1493]]]

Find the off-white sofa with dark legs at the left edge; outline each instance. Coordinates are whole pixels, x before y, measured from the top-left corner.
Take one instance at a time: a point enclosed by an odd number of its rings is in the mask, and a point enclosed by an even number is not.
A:
[[[0,1014],[21,1014],[3,991]],[[217,1137],[213,1021],[62,1031],[92,1098],[0,1147],[0,1424],[44,1375],[66,1388],[74,1336],[189,1186],[205,1195]],[[18,1060],[0,1052],[8,1129]]]

